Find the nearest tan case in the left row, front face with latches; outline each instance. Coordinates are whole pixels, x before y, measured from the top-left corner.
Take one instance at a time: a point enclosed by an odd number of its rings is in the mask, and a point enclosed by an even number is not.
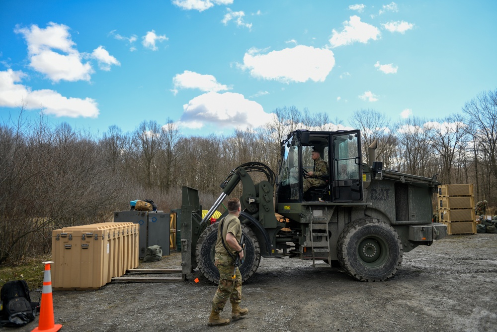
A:
[[[98,289],[109,281],[106,227],[66,227],[52,232],[52,282],[58,289]]]

